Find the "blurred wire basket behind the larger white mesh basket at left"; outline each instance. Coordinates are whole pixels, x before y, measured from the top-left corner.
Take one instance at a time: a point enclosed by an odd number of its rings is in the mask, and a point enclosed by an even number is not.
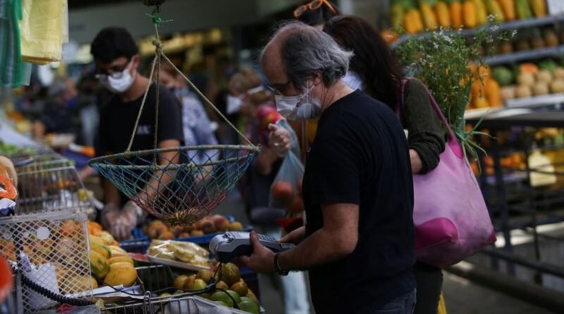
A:
[[[94,205],[78,172],[68,165],[55,167],[61,163],[45,162],[18,171],[16,214],[73,210],[94,218]]]

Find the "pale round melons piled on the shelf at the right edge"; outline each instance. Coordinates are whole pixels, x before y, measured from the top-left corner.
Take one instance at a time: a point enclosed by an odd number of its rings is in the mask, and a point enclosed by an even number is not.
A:
[[[564,92],[564,67],[553,60],[524,63],[514,68],[497,66],[492,76],[502,86],[503,101]]]

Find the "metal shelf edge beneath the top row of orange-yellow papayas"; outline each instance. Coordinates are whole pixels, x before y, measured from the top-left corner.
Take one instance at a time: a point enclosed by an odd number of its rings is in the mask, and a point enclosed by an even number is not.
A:
[[[501,30],[517,30],[519,28],[534,28],[537,26],[543,26],[543,25],[550,25],[553,23],[560,23],[560,22],[564,22],[564,15],[560,15],[560,16],[545,16],[543,18],[530,18],[527,20],[513,20],[511,22],[506,22],[506,23],[501,23],[498,25],[482,25],[479,26],[477,28],[471,28],[471,29],[463,29],[462,31],[460,31],[460,34],[465,35],[465,36],[472,36],[474,35],[476,32],[478,32],[479,30],[483,30],[488,29],[491,32],[499,32]],[[454,31],[454,30],[451,30]],[[422,32],[420,34],[416,34],[416,35],[401,35],[398,40],[396,40],[395,42],[393,42],[391,44],[391,48],[395,48],[400,44],[403,44],[403,42],[405,42],[407,39],[409,39],[410,37],[414,37],[414,38],[427,38],[429,37],[429,35],[431,35],[432,32]]]

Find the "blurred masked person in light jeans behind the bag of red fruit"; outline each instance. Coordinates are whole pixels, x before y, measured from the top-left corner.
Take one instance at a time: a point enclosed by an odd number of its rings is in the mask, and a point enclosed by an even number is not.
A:
[[[241,68],[228,82],[229,97],[228,113],[240,112],[242,130],[252,143],[260,145],[261,151],[245,172],[243,179],[243,198],[249,220],[253,227],[261,234],[280,238],[281,227],[276,224],[288,214],[285,208],[272,206],[270,203],[270,188],[283,162],[283,155],[278,155],[269,143],[269,125],[283,119],[276,111],[272,92],[266,87],[262,77],[252,68]],[[286,129],[284,129],[286,130]],[[291,138],[286,139],[290,145]],[[298,156],[299,157],[299,156]],[[259,286],[264,275],[259,276]],[[284,311],[288,314],[309,314],[307,286],[302,272],[295,272],[287,277],[281,277]]]

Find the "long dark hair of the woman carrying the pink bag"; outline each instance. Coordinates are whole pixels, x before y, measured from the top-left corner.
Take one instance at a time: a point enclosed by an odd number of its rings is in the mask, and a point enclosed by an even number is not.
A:
[[[357,16],[331,18],[323,30],[341,47],[354,53],[349,71],[362,78],[364,92],[396,110],[401,75],[388,44],[376,30]]]

